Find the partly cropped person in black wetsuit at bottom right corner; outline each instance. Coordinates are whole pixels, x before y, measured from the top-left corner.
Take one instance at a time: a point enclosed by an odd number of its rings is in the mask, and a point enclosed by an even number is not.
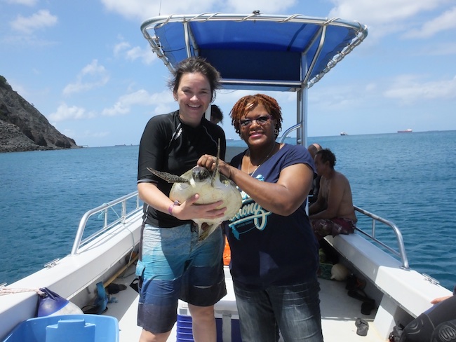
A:
[[[429,310],[407,324],[399,342],[455,342],[456,286],[452,296],[439,297]]]

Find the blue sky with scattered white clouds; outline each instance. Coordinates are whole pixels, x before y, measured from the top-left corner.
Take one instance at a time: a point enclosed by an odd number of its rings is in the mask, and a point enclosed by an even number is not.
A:
[[[142,22],[255,10],[368,26],[365,41],[309,89],[309,137],[456,130],[455,0],[0,0],[0,75],[76,144],[139,144],[149,118],[177,109]],[[239,139],[229,111],[248,93],[217,93],[227,138]],[[295,94],[269,95],[285,130]]]

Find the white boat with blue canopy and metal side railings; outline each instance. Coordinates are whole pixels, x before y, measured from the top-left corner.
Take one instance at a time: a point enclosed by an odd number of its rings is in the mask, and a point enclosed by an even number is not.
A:
[[[170,70],[188,56],[201,56],[219,69],[225,89],[284,91],[296,95],[296,123],[281,141],[295,133],[307,145],[307,93],[368,35],[356,21],[305,15],[254,13],[169,15],[151,18],[141,31],[152,50]],[[294,139],[294,137],[293,137]],[[107,199],[108,200],[108,199]],[[363,284],[371,308],[347,295],[346,281],[330,280],[334,266],[321,263],[321,321],[325,341],[385,341],[396,325],[407,324],[431,306],[431,299],[451,292],[409,266],[401,230],[387,218],[355,206],[358,227],[349,235],[324,241],[342,264]],[[102,220],[93,221],[102,216]],[[362,219],[361,219],[362,217]],[[361,223],[362,222],[362,223]],[[72,250],[32,275],[0,289],[0,338],[36,315],[36,288],[46,287],[79,308],[93,306],[97,285],[126,285],[102,315],[119,322],[120,341],[138,341],[138,292],[135,261],[142,223],[142,203],[133,192],[88,210],[76,229]],[[382,236],[380,239],[379,236]],[[389,239],[384,240],[384,236]],[[386,241],[386,242],[385,242]],[[392,241],[392,242],[389,242]],[[240,341],[239,316],[228,266],[227,296],[215,305],[218,341]],[[366,298],[364,297],[364,298]],[[177,323],[168,341],[193,341],[186,303],[179,303]],[[368,324],[367,336],[356,324]],[[231,327],[231,329],[230,329]],[[187,330],[185,330],[187,329]],[[182,332],[185,330],[187,332]],[[185,338],[180,336],[185,334]],[[181,338],[182,337],[182,338]]]

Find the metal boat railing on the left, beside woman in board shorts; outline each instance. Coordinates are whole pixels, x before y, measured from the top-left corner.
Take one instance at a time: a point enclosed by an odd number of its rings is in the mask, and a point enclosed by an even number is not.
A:
[[[133,203],[133,201],[135,203]],[[117,212],[119,209],[120,213]],[[71,254],[78,254],[79,249],[83,245],[86,245],[88,242],[94,240],[95,238],[102,235],[102,233],[105,233],[105,231],[108,231],[112,227],[118,224],[124,224],[128,217],[131,217],[133,214],[136,214],[139,210],[142,210],[142,202],[140,201],[138,191],[119,197],[116,200],[112,200],[109,203],[104,203],[99,207],[93,208],[92,210],[88,210],[88,212],[83,214],[83,217],[79,222],[79,227],[78,231],[76,232],[76,238],[74,238]],[[90,234],[87,238],[83,238],[84,231],[86,231],[86,227],[88,224],[88,220],[90,219],[90,217],[93,217],[93,215],[97,215],[98,218],[101,217],[103,219],[102,227],[98,229],[98,231],[95,231],[95,233]]]

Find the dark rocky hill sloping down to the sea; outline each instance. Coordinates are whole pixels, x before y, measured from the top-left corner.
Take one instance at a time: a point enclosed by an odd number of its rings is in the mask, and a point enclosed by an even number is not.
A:
[[[62,135],[0,75],[0,152],[80,147]]]

